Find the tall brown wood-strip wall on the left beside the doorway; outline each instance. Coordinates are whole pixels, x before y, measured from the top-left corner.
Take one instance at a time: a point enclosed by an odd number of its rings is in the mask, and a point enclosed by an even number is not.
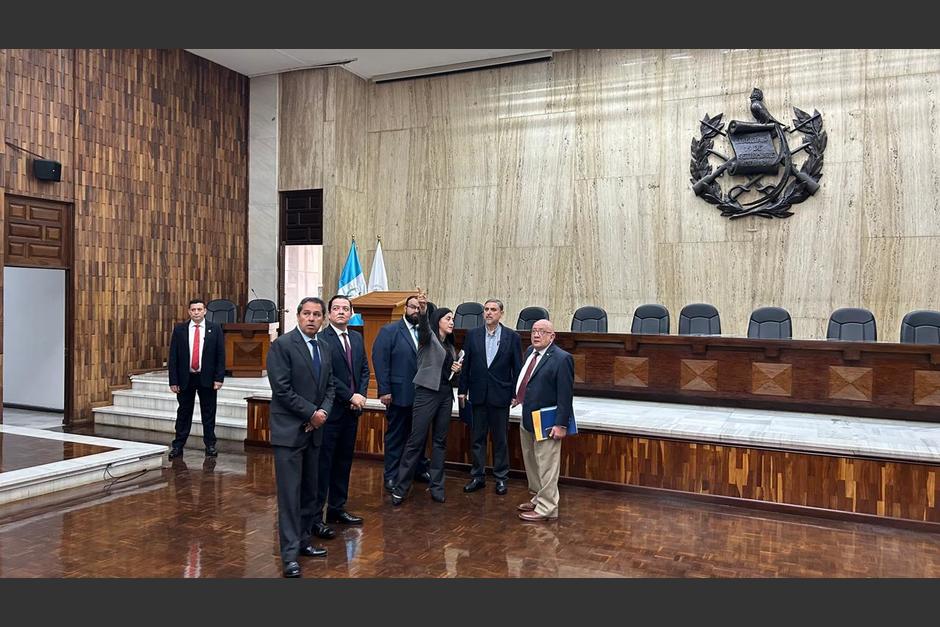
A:
[[[7,50],[7,137],[62,162],[7,193],[74,203],[74,415],[160,368],[192,296],[247,291],[248,80],[182,50]]]

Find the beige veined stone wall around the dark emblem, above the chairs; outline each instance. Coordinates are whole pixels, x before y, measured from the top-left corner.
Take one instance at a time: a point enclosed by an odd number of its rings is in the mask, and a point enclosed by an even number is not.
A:
[[[282,77],[308,87],[304,102],[282,91],[282,147],[339,149],[325,122],[283,115],[352,89],[318,86],[325,72]],[[382,235],[391,289],[418,281],[450,307],[494,295],[510,323],[541,305],[568,328],[593,304],[622,332],[638,305],[659,302],[675,329],[683,305],[705,301],[725,333],[779,305],[795,337],[823,338],[832,310],[863,306],[897,341],[906,312],[940,309],[938,83],[938,50],[574,50],[368,85],[366,203],[325,225],[336,246],[324,285],[348,250],[342,230],[355,229],[367,273]],[[788,220],[731,222],[689,189],[697,121],[749,119],[754,86],[781,120],[819,109],[829,134],[822,187]],[[282,184],[312,183],[309,159],[282,159]],[[322,163],[320,180],[348,175]],[[339,193],[325,205],[355,207]]]

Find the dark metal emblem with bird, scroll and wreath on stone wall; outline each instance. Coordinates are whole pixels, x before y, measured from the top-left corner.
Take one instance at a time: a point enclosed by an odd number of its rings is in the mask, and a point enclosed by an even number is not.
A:
[[[771,115],[760,89],[754,88],[750,100],[755,121],[732,120],[727,132],[723,113],[714,117],[706,113],[702,118],[702,136],[692,139],[692,191],[732,220],[744,216],[789,218],[793,205],[819,190],[826,151],[822,115],[815,109],[810,115],[793,107],[796,117],[791,128]],[[797,137],[802,137],[802,143],[791,149],[789,139],[794,133],[800,134]],[[715,148],[718,136],[730,143],[733,156],[726,157]],[[712,157],[721,163],[713,167]],[[738,179],[732,180],[735,184],[727,192],[719,185],[724,174]]]

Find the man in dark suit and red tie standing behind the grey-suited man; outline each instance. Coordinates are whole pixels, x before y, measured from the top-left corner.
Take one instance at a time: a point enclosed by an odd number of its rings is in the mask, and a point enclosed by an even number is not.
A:
[[[352,301],[346,296],[334,296],[328,305],[330,324],[320,331],[317,339],[321,346],[332,352],[333,384],[336,396],[333,411],[323,426],[323,445],[320,447],[320,472],[317,500],[314,505],[313,533],[320,538],[336,535],[323,522],[323,504],[326,503],[326,523],[361,525],[362,518],[346,511],[349,496],[349,472],[356,448],[356,430],[359,416],[366,406],[369,390],[369,360],[365,342],[358,331],[348,329],[353,315]]]

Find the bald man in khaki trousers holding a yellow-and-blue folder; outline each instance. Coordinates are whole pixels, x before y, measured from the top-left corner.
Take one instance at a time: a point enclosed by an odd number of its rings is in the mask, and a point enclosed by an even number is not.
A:
[[[516,383],[513,407],[522,404],[519,438],[529,491],[535,496],[520,504],[519,518],[529,522],[558,518],[558,474],[561,469],[561,441],[567,435],[568,420],[574,413],[574,358],[553,343],[555,328],[548,320],[532,325],[532,346],[526,351],[522,374]],[[532,429],[532,412],[557,407],[555,425],[549,439],[537,442]]]

